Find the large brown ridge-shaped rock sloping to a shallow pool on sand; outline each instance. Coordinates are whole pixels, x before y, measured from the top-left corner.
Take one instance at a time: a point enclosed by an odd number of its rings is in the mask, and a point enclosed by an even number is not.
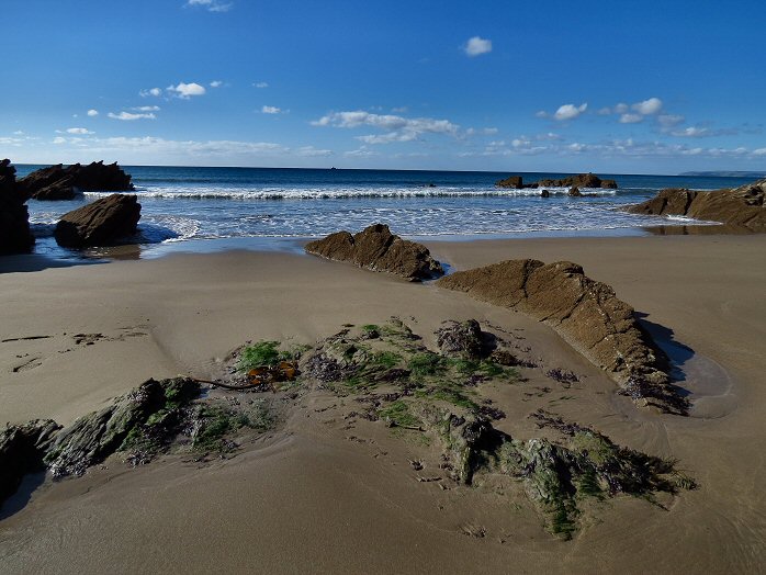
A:
[[[687,401],[669,383],[667,358],[643,331],[633,308],[576,263],[508,260],[455,272],[437,285],[544,322],[640,405],[686,414]]]

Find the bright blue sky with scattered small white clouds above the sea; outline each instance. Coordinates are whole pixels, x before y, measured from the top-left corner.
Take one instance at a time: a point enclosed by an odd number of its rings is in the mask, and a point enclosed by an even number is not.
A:
[[[766,5],[3,0],[18,164],[766,170]]]

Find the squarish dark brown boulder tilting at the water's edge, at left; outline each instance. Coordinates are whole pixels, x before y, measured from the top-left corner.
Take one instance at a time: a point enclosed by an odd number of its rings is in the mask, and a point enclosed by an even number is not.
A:
[[[70,248],[111,246],[136,233],[140,204],[136,195],[112,194],[61,216],[56,241]]]

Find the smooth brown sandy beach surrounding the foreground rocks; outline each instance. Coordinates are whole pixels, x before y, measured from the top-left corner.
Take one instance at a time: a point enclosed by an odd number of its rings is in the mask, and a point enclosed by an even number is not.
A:
[[[464,294],[311,257],[232,251],[45,268],[0,261],[0,422],[68,424],[148,376],[210,376],[249,339],[313,342],[391,315],[420,334],[475,317],[526,338],[543,365],[584,376],[556,411],[619,443],[674,456],[700,484],[665,501],[595,506],[570,542],[526,499],[419,483],[414,446],[348,429],[313,398],[230,460],[109,462],[86,477],[31,477],[0,514],[3,573],[756,573],[766,564],[766,236],[432,243],[457,269],[568,259],[688,347],[692,416],[642,411],[545,326]],[[42,264],[41,264],[42,263]],[[13,272],[12,269],[38,271]],[[41,337],[41,339],[19,339]],[[550,397],[503,392],[517,437]],[[503,395],[503,394],[500,394]],[[324,402],[324,403],[323,403]],[[428,470],[428,467],[427,467]],[[29,498],[29,501],[26,500]],[[483,528],[484,538],[471,537]],[[469,534],[466,534],[469,533]]]

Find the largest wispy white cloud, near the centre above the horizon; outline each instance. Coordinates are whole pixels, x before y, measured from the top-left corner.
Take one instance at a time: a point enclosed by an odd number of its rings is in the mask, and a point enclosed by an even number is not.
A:
[[[335,126],[357,128],[371,126],[385,132],[381,135],[358,136],[365,144],[388,144],[392,142],[412,142],[424,134],[443,134],[457,137],[460,126],[448,120],[431,117],[403,117],[393,114],[373,114],[357,110],[353,112],[334,112],[312,122],[314,126]]]

